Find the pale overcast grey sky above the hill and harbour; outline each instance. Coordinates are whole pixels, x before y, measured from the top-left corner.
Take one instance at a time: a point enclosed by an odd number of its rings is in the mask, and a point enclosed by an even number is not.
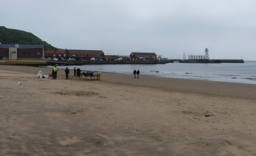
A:
[[[1,0],[0,26],[109,55],[256,60],[256,0]]]

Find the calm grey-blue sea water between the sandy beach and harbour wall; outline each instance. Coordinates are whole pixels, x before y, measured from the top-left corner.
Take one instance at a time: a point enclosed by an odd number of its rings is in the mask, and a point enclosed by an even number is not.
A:
[[[47,67],[52,68],[52,66]],[[245,61],[244,63],[166,63],[153,65],[68,65],[67,67],[71,73],[72,69],[76,67],[82,71],[100,71],[133,76],[134,69],[140,69],[140,75],[147,76],[256,84],[256,61]],[[57,66],[57,69],[65,68],[66,66]]]

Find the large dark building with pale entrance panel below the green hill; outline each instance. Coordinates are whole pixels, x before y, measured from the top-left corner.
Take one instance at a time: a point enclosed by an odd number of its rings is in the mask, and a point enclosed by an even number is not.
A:
[[[0,44],[0,60],[44,59],[44,45]]]

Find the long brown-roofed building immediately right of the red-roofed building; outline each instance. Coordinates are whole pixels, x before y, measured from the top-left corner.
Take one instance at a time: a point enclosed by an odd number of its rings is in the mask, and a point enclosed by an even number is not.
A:
[[[104,52],[102,50],[76,50],[66,49],[68,57],[74,58],[77,61],[87,61],[91,58],[101,59],[104,58]]]

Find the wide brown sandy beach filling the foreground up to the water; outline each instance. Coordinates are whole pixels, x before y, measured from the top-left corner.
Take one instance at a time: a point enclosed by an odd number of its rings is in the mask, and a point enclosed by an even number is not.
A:
[[[256,155],[256,85],[39,70],[0,65],[0,156]]]

